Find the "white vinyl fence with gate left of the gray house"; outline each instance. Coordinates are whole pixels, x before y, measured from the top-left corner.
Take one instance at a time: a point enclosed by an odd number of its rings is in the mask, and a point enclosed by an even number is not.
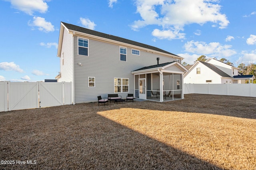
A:
[[[0,111],[72,104],[72,82],[0,82]]]

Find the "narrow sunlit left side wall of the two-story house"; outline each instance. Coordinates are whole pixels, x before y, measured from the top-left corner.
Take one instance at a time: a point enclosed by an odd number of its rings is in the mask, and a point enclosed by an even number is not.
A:
[[[72,34],[69,34],[66,29],[63,33],[63,42],[60,56],[60,72],[61,78],[58,82],[72,82],[73,81],[73,48],[72,48]],[[64,56],[64,64],[62,59]]]

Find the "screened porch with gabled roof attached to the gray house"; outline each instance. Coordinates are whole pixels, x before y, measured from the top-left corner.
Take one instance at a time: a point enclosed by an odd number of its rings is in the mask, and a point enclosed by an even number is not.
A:
[[[183,74],[186,71],[186,68],[177,62],[132,71],[135,98],[158,102],[183,99]]]

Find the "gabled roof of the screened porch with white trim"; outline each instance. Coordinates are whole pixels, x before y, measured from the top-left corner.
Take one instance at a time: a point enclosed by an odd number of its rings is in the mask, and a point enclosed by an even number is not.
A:
[[[172,61],[168,63],[142,67],[132,71],[132,74],[140,74],[140,73],[146,73],[146,72],[159,72],[159,71],[183,74],[185,72],[188,72],[188,69],[186,69],[182,64],[178,63],[177,61]]]

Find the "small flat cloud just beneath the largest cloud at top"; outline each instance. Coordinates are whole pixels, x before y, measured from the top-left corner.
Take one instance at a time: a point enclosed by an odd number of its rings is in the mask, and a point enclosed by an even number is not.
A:
[[[159,30],[159,29],[154,29],[152,32],[152,35],[155,37],[158,37],[159,39],[184,39],[185,38],[185,33],[180,33],[179,30]]]

